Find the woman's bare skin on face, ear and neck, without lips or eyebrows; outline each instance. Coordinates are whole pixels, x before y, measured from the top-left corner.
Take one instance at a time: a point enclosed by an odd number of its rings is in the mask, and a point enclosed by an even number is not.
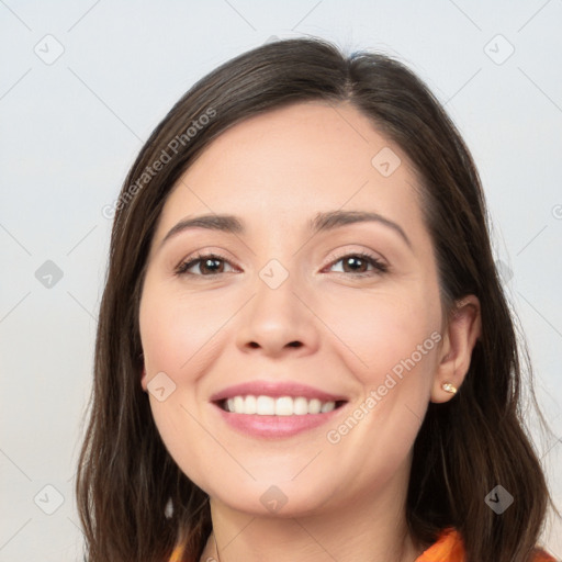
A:
[[[383,147],[402,161],[390,177],[371,164]],[[441,383],[462,384],[481,327],[471,295],[447,322],[416,181],[401,148],[352,105],[307,102],[223,133],[169,195],[140,301],[140,383],[147,391],[165,372],[176,384],[162,402],[149,393],[154,419],[178,465],[211,497],[222,562],[412,562],[427,547],[405,527],[412,448],[428,403],[452,397]],[[378,222],[307,229],[318,212],[336,210],[376,212],[411,246]],[[236,215],[247,231],[194,228],[162,245],[178,222],[209,213]],[[198,251],[226,261],[176,274]],[[387,271],[341,260],[357,252]],[[271,259],[289,273],[277,289],[259,277]],[[432,333],[439,345],[329,442],[326,432]],[[300,381],[349,402],[328,426],[257,439],[232,429],[210,403],[255,379]],[[272,485],[288,498],[274,514],[260,502]],[[209,557],[216,558],[211,538],[201,560]]]

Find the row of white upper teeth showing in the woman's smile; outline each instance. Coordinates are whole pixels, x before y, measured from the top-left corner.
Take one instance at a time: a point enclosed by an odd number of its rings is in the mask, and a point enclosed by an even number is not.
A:
[[[226,412],[234,414],[257,414],[258,416],[304,416],[325,414],[335,409],[335,402],[307,400],[303,396],[234,396],[225,403]]]

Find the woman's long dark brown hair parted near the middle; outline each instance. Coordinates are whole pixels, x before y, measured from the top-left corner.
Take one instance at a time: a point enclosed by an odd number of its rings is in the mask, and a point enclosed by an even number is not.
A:
[[[482,337],[464,383],[448,403],[428,405],[415,441],[406,513],[412,536],[426,544],[456,527],[468,562],[527,562],[532,553],[551,499],[524,429],[526,356],[494,263],[472,157],[439,102],[404,65],[297,38],[262,45],[196,82],[140,149],[112,206],[76,488],[90,562],[164,562],[180,537],[186,562],[203,551],[209,497],[167,452],[139,383],[147,252],[167,195],[205,146],[247,117],[310,100],[353,104],[404,150],[418,173],[443,307],[451,311],[467,294],[482,306]],[[484,502],[496,485],[515,498],[501,515]],[[165,516],[170,499],[173,513]]]

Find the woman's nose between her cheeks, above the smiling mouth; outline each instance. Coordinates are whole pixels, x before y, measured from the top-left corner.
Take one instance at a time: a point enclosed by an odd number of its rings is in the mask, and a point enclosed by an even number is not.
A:
[[[307,301],[291,274],[274,289],[258,278],[254,296],[238,317],[238,348],[271,358],[316,351],[318,323]]]

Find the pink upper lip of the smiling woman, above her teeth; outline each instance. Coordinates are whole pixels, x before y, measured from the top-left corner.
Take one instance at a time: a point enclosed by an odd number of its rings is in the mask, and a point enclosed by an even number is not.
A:
[[[317,398],[321,402],[339,402],[347,401],[346,396],[340,394],[331,394],[329,392],[315,389],[314,386],[310,386],[307,384],[302,384],[300,382],[276,382],[276,381],[248,381],[243,382],[240,384],[235,384],[233,386],[227,386],[218,392],[215,392],[211,396],[211,402],[221,402],[227,398],[233,398],[234,396],[271,396],[271,397],[280,397],[280,396],[303,396],[307,400]]]

